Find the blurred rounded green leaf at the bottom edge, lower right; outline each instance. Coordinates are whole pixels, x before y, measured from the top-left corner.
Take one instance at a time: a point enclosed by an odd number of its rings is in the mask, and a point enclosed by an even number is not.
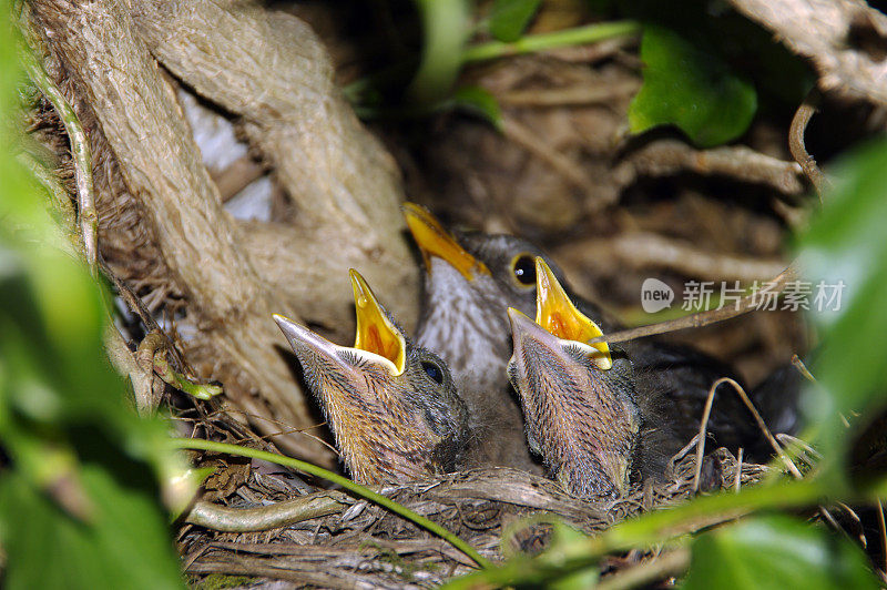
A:
[[[785,516],[701,535],[684,590],[878,588],[865,555],[846,539]]]

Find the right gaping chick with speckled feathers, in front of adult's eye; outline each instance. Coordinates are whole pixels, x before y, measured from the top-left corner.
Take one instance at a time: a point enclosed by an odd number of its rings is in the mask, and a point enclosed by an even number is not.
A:
[[[536,258],[536,322],[508,309],[513,355],[508,374],[520,395],[530,447],[574,496],[622,495],[632,479],[661,476],[682,442],[639,391],[625,355],[575,308],[541,257]]]

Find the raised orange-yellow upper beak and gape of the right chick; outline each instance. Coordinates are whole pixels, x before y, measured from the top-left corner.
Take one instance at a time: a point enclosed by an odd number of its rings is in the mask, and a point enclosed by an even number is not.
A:
[[[575,308],[554,273],[539,256],[536,257],[536,323],[564,340],[585,344],[591,338],[603,336],[598,324]],[[606,370],[613,366],[606,343],[591,346],[600,353],[592,357],[598,367]]]

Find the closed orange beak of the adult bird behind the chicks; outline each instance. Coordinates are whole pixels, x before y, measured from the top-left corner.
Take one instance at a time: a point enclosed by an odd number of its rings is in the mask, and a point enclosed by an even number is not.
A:
[[[487,265],[466,252],[427,208],[416,203],[404,203],[401,210],[407,218],[407,227],[422,252],[426,272],[431,272],[431,256],[438,256],[459,271],[467,281],[472,281],[478,274],[490,274]]]

